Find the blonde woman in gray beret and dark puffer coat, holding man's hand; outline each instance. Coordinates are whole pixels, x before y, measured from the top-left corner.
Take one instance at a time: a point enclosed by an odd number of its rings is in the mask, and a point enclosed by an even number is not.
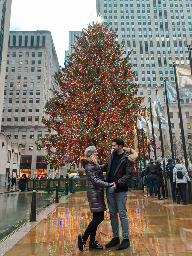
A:
[[[87,198],[91,212],[93,212],[93,219],[85,233],[78,235],[78,247],[81,251],[89,236],[89,248],[103,249],[103,246],[95,241],[95,236],[99,223],[104,220],[104,211],[107,210],[104,201],[104,188],[110,187],[110,184],[104,181],[97,155],[96,147],[90,146],[85,150],[85,157],[80,158],[80,164],[85,168],[87,176]]]

